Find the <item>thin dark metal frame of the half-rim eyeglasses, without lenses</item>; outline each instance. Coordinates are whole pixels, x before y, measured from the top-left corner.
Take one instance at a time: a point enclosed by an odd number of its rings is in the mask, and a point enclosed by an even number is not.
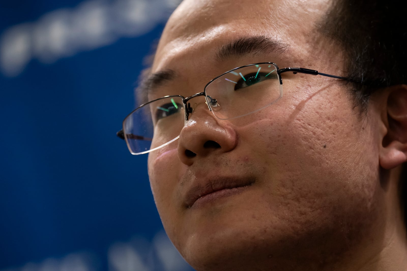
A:
[[[147,103],[145,103],[145,104],[148,104],[148,103],[150,103],[150,102],[155,102],[155,101],[160,100],[160,99],[162,99],[162,98],[168,98],[168,97],[179,97],[179,98],[182,98],[182,102],[184,103],[184,109],[185,109],[185,110],[184,110],[184,111],[185,111],[185,121],[187,121],[187,120],[188,120],[188,117],[189,117],[189,114],[192,113],[192,111],[193,111],[193,108],[191,108],[190,103],[188,103],[188,101],[191,100],[192,98],[199,97],[199,96],[205,96],[205,97],[208,97],[208,98],[211,100],[211,102],[210,102],[211,104],[212,104],[212,102],[213,102],[214,104],[216,104],[216,102],[217,102],[216,100],[214,100],[214,99],[212,99],[210,96],[207,96],[207,95],[206,95],[206,87],[207,87],[210,83],[212,83],[214,80],[218,79],[219,77],[221,77],[221,76],[223,76],[223,75],[225,75],[225,74],[227,74],[227,73],[229,73],[229,72],[232,72],[232,71],[234,71],[234,70],[236,70],[236,69],[240,69],[240,68],[248,67],[248,66],[253,66],[253,65],[261,65],[261,64],[272,64],[272,65],[276,66],[276,68],[277,68],[277,74],[278,74],[278,80],[280,81],[280,85],[282,85],[282,78],[281,78],[280,75],[281,75],[282,73],[284,73],[284,72],[293,72],[293,74],[298,74],[298,73],[300,73],[300,74],[322,75],[322,76],[328,76],[328,77],[337,78],[337,79],[342,79],[342,80],[348,80],[348,78],[346,78],[346,77],[336,76],[336,75],[332,75],[332,74],[324,74],[324,73],[318,72],[318,71],[316,71],[316,70],[314,70],[314,69],[292,68],[292,67],[278,69],[277,64],[275,64],[275,63],[273,63],[273,62],[262,62],[262,63],[254,63],[254,64],[249,64],[249,65],[244,65],[244,66],[236,67],[236,68],[234,68],[234,69],[231,69],[231,70],[228,71],[228,72],[224,72],[223,74],[221,74],[221,75],[219,75],[219,76],[213,78],[212,80],[210,80],[210,81],[208,82],[208,84],[205,85],[203,92],[196,93],[196,94],[194,94],[194,95],[192,95],[192,96],[189,96],[189,97],[186,97],[186,98],[185,98],[184,96],[181,96],[181,95],[168,95],[168,96],[164,96],[164,97],[160,97],[160,98],[151,100],[151,101],[149,101],[149,102],[147,102]],[[188,103],[188,104],[187,104],[187,103]],[[144,106],[145,104],[142,104],[142,105],[138,106],[136,109],[134,109],[133,111],[131,111],[131,113],[130,113],[129,115],[133,114],[134,111],[138,110],[138,108]],[[210,108],[209,104],[208,104],[208,108],[209,108],[209,111],[212,111],[212,109]],[[123,120],[123,124],[124,124],[124,121],[126,120],[126,118],[127,118],[129,115],[127,115],[127,116],[125,117],[125,119]],[[124,132],[123,132],[123,128],[122,128],[120,131],[118,131],[118,132],[116,133],[116,135],[117,135],[118,137],[120,137],[121,139],[125,139],[125,135],[124,135]],[[136,134],[127,134],[127,137],[128,137],[129,139],[152,140],[151,138],[145,138],[145,137],[142,137],[142,136],[139,136],[139,135],[136,135]],[[176,137],[175,139],[177,139],[177,138],[178,138],[178,137]],[[168,143],[171,143],[171,142],[174,141],[175,139],[171,140],[171,141],[168,142]],[[167,144],[168,144],[168,143],[167,143]],[[167,145],[167,144],[161,145],[160,147],[164,147],[164,146]],[[152,151],[152,150],[149,150],[149,152],[151,152],[151,151]]]

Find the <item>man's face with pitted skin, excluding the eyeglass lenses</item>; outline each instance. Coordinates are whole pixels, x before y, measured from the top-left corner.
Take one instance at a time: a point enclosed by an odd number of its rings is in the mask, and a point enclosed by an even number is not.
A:
[[[186,0],[152,67],[174,76],[157,88],[187,97],[223,72],[259,62],[341,76],[340,49],[316,30],[327,9],[323,1]],[[253,37],[278,46],[252,44],[219,61],[222,47]],[[371,182],[379,168],[373,113],[361,117],[340,80],[282,78],[277,103],[232,120],[217,119],[203,97],[193,98],[179,140],[149,154],[164,228],[198,270],[265,263],[293,270],[294,256],[324,264],[357,245],[382,212],[380,184]]]

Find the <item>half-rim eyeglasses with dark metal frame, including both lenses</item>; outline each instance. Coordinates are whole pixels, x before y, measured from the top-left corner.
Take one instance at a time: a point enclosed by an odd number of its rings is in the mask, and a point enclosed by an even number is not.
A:
[[[209,111],[219,119],[234,119],[259,111],[282,97],[284,72],[323,74],[312,69],[283,68],[271,62],[234,68],[212,79],[204,91],[189,97],[168,95],[154,98],[140,105],[123,120],[123,129],[116,134],[125,139],[131,154],[145,154],[158,150],[179,138],[193,108],[188,102],[204,96]]]

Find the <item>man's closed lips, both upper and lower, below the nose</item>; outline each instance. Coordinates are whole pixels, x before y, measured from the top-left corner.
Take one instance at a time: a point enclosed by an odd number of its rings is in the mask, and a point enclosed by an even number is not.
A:
[[[201,199],[213,199],[226,195],[232,195],[242,191],[242,188],[254,183],[254,178],[241,177],[218,177],[205,181],[195,182],[186,193],[186,206],[192,207],[195,202]]]

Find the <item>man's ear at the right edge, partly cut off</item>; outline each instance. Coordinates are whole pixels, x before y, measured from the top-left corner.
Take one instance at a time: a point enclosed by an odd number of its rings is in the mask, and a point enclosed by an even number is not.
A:
[[[380,151],[380,165],[392,169],[407,161],[407,85],[388,87],[387,128]]]

